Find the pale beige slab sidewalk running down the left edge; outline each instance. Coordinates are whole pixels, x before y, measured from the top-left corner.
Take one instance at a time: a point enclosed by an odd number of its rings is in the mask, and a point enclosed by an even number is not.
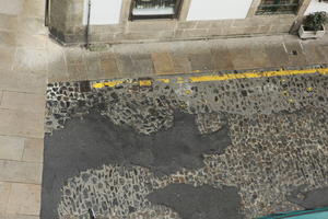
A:
[[[44,1],[0,3],[0,218],[37,219],[48,68]]]

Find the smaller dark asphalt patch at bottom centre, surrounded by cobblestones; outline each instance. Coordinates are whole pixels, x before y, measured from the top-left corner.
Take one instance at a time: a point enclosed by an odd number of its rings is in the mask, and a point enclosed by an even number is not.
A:
[[[154,205],[164,205],[179,214],[183,219],[242,219],[241,197],[236,187],[194,187],[171,184],[148,195]]]

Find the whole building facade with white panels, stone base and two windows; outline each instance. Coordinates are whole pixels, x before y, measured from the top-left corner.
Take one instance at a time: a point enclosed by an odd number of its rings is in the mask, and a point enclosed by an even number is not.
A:
[[[48,0],[50,36],[65,45],[289,33],[323,0]],[[328,9],[327,9],[328,10]]]

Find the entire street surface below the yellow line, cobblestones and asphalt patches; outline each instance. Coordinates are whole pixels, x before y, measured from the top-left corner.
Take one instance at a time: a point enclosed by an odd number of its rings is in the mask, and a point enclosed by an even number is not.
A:
[[[47,216],[250,219],[327,193],[326,76],[93,83],[48,84]]]

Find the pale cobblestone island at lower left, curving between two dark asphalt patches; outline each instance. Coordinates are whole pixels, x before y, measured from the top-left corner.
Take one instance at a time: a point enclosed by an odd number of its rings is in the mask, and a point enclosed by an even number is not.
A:
[[[103,166],[99,170],[81,172],[62,187],[59,217],[75,216],[89,219],[87,210],[93,209],[97,218],[130,219],[152,211],[160,218],[162,215],[163,219],[177,218],[165,207],[151,206],[145,198],[145,195],[159,186],[156,181],[149,170],[138,166]]]

